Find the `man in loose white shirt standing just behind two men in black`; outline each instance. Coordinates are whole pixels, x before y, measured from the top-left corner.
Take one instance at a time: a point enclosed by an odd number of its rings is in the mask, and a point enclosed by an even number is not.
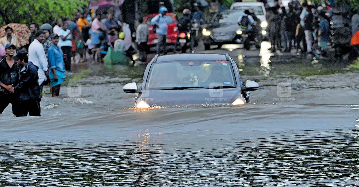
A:
[[[48,75],[48,63],[46,59],[46,53],[42,46],[42,43],[45,41],[46,35],[43,31],[36,31],[35,39],[31,42],[29,46],[29,62],[32,62],[33,65],[37,66],[37,74],[39,76],[39,85],[40,91],[42,93],[43,82],[47,80],[46,76]]]

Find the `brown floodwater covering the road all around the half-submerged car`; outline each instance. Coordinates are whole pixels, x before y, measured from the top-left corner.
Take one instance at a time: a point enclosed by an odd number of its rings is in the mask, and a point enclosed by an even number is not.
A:
[[[260,89],[241,107],[136,111],[122,85],[144,67],[119,66],[71,77],[80,95],[45,95],[40,118],[6,108],[0,186],[359,186],[358,73],[242,57]]]

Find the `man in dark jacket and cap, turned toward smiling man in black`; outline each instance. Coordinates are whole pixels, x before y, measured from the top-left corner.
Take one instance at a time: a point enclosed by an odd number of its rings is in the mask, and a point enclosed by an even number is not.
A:
[[[36,40],[36,39],[35,39]],[[18,110],[16,117],[41,116],[41,91],[38,84],[38,67],[29,62],[27,52],[18,52],[16,55],[17,64],[19,65],[19,84],[10,90],[18,99]]]

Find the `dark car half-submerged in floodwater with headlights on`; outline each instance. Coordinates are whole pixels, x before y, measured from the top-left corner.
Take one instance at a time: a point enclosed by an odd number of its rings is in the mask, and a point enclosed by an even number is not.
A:
[[[227,53],[156,55],[147,65],[143,83],[123,86],[126,93],[139,93],[136,108],[194,104],[249,102],[255,81],[243,84],[238,67]]]

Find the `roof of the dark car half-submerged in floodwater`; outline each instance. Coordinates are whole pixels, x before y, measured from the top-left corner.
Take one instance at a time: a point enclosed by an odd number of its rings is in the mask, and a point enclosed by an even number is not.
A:
[[[164,55],[157,58],[157,62],[181,61],[181,60],[226,60],[225,55],[213,53],[190,53]]]

